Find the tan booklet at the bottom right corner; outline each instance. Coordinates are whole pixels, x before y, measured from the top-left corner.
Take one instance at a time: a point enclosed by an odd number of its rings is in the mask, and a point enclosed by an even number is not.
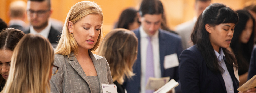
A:
[[[241,87],[237,88],[238,91],[247,91],[251,88],[256,87],[256,75],[253,76],[250,80],[245,82]]]

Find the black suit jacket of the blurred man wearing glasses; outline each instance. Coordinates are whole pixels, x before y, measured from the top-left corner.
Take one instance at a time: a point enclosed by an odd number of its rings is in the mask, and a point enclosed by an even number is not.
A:
[[[24,31],[24,33],[25,34],[30,33],[30,29],[27,31]],[[50,43],[58,43],[60,36],[61,36],[61,32],[59,32],[58,30],[54,29],[51,26],[51,29],[50,29],[50,32],[48,35],[48,39],[49,39]]]

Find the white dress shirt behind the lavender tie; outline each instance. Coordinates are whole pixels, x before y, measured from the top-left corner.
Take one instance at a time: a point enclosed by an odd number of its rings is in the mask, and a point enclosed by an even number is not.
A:
[[[146,72],[146,56],[147,56],[147,46],[149,40],[147,37],[147,33],[143,30],[143,27],[139,27],[139,33],[141,38],[141,91],[140,93],[145,93],[146,85],[145,83],[145,72]],[[151,37],[151,43],[153,48],[153,56],[154,56],[154,75],[156,78],[161,77],[161,68],[160,68],[160,53],[159,53],[159,38],[158,38],[159,31],[157,30],[156,33]]]

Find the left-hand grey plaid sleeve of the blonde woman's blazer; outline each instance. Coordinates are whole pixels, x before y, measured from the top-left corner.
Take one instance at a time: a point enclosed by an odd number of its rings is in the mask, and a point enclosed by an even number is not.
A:
[[[63,60],[64,57],[62,56]],[[54,65],[58,66],[58,72],[54,75],[51,76],[50,80],[50,86],[51,86],[51,93],[62,93],[62,82],[63,82],[63,65],[64,62],[61,62],[59,59],[62,58],[56,58],[55,55],[55,60],[54,60]]]

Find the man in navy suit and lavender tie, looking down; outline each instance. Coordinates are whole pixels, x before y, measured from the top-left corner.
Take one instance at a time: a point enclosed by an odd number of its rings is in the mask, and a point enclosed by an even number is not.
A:
[[[128,93],[152,93],[147,90],[149,77],[167,77],[179,82],[178,58],[182,52],[181,39],[160,28],[163,16],[163,5],[159,0],[143,0],[138,12],[141,26],[134,30],[138,38],[137,61],[133,66],[136,74],[124,82]],[[177,86],[172,93],[180,93]]]

